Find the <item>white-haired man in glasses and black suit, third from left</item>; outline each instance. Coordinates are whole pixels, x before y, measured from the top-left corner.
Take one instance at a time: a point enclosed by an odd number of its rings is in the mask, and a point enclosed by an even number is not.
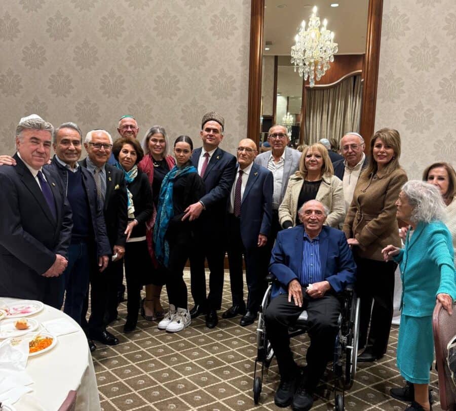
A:
[[[83,328],[88,336],[107,345],[119,344],[119,340],[106,331],[105,315],[108,322],[117,318],[117,278],[123,276],[123,256],[125,254],[127,228],[127,188],[123,173],[106,162],[111,154],[112,138],[105,130],[93,130],[87,133],[84,146],[88,156],[80,162],[98,179],[97,189],[103,203],[103,214],[106,231],[112,250],[112,260],[104,272],[92,272],[91,314],[87,323],[85,317],[88,309],[88,298],[83,310]],[[95,350],[92,343],[91,351]]]

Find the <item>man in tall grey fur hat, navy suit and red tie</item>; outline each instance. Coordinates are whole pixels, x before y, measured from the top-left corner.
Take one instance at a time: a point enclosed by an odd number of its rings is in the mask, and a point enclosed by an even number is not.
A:
[[[192,163],[203,178],[206,194],[185,210],[182,220],[198,219],[195,247],[190,257],[191,290],[195,307],[192,318],[206,313],[206,325],[218,323],[223,292],[223,262],[225,257],[224,218],[226,200],[236,173],[236,157],[218,147],[223,140],[223,117],[215,112],[203,116],[200,136],[203,147],[193,151]],[[209,295],[206,297],[204,260],[210,270]]]

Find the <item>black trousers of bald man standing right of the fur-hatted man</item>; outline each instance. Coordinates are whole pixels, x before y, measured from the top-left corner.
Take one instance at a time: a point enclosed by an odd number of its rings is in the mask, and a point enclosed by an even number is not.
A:
[[[227,254],[230,263],[230,285],[233,305],[244,305],[244,281],[242,276],[242,256],[246,265],[247,311],[258,312],[267,283],[264,277],[268,273],[271,256],[267,255],[266,243],[263,247],[246,249],[241,237],[241,221],[234,214],[228,216]],[[269,242],[269,239],[268,239]]]

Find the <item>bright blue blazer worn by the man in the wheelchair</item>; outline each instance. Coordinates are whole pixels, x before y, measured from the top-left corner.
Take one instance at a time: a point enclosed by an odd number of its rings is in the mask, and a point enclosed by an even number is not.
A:
[[[302,269],[304,227],[279,231],[272,251],[269,271],[279,280],[273,285],[273,297],[288,294],[288,283],[299,281]],[[320,232],[320,262],[323,277],[332,289],[340,293],[345,286],[355,282],[356,264],[344,233],[323,226]]]

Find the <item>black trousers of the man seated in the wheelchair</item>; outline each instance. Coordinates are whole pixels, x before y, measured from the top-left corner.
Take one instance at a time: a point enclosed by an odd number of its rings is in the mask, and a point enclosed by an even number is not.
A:
[[[328,358],[334,350],[340,302],[333,294],[312,299],[302,290],[302,295],[302,307],[294,305],[293,300],[288,302],[288,294],[281,294],[272,299],[264,314],[264,322],[267,337],[276,354],[280,377],[289,379],[294,376],[296,363],[290,350],[288,327],[295,324],[303,310],[307,310],[311,344],[306,354],[309,376],[306,389],[312,393],[323,377]]]

